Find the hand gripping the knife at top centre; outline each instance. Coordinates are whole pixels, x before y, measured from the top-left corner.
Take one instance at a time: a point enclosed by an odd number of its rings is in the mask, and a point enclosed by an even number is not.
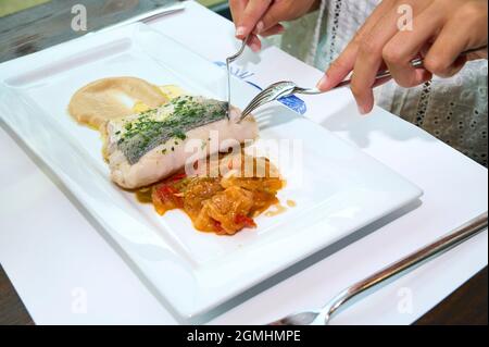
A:
[[[283,21],[293,21],[315,10],[321,0],[229,0],[236,37],[250,35],[248,46],[253,51],[262,48],[258,35],[267,37],[281,34]]]

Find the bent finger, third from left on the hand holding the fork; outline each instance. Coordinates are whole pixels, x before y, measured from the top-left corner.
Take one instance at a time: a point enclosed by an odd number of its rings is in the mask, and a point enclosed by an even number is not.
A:
[[[413,30],[399,32],[384,47],[384,61],[401,87],[411,88],[431,78],[424,67],[413,67],[412,60],[419,57],[426,42],[443,26],[444,20],[436,15],[438,12],[436,5],[425,9],[414,18]]]

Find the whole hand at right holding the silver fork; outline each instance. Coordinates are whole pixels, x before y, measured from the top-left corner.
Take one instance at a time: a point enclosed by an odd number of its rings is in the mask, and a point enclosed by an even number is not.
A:
[[[403,22],[412,13],[412,21]],[[383,67],[402,87],[432,75],[450,77],[468,60],[487,59],[488,0],[384,0],[318,83],[329,90],[353,71],[351,89],[361,113],[374,108],[375,77]],[[411,61],[424,55],[424,67]]]

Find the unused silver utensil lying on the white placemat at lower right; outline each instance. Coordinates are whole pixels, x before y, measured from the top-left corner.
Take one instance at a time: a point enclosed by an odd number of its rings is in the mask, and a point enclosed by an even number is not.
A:
[[[480,214],[468,223],[460,226],[449,235],[438,239],[437,241],[415,251],[406,258],[394,262],[393,264],[380,270],[379,272],[358,282],[351,287],[344,289],[330,300],[323,309],[304,311],[291,314],[281,320],[271,323],[269,325],[327,325],[331,317],[338,309],[356,297],[361,293],[385,282],[392,276],[412,269],[423,261],[439,256],[444,251],[460,245],[476,234],[485,231],[488,225],[487,212]]]

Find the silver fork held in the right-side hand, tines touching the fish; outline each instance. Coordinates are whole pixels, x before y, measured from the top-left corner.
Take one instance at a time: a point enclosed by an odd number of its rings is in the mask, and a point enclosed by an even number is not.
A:
[[[469,49],[464,51],[463,53],[461,53],[461,57],[464,57],[466,54],[476,52],[476,51],[480,51],[482,49],[487,49],[487,46],[485,47],[480,47],[480,48],[476,48],[476,49]],[[424,61],[423,58],[417,58],[411,61],[411,64],[413,67],[415,69],[421,69],[424,65]],[[391,73],[390,71],[386,70],[386,71],[381,71],[377,74],[377,76],[375,77],[375,84],[387,79],[391,77]],[[351,84],[351,78],[349,79],[344,79],[343,82],[341,82],[340,84],[338,84],[334,89],[338,89],[338,88],[342,88],[342,87],[347,87]],[[242,115],[240,121],[242,121],[243,119],[246,119],[251,112],[253,112],[254,110],[256,110],[258,108],[278,100],[280,98],[284,97],[288,97],[294,94],[303,94],[303,95],[316,95],[316,94],[322,94],[324,91],[321,91],[317,88],[301,88],[299,87],[296,83],[293,82],[278,82],[278,83],[274,83],[273,85],[271,85],[269,87],[263,89],[263,91],[261,91],[256,97],[254,97],[253,100],[251,100],[251,102],[248,104],[248,107],[242,111]]]

